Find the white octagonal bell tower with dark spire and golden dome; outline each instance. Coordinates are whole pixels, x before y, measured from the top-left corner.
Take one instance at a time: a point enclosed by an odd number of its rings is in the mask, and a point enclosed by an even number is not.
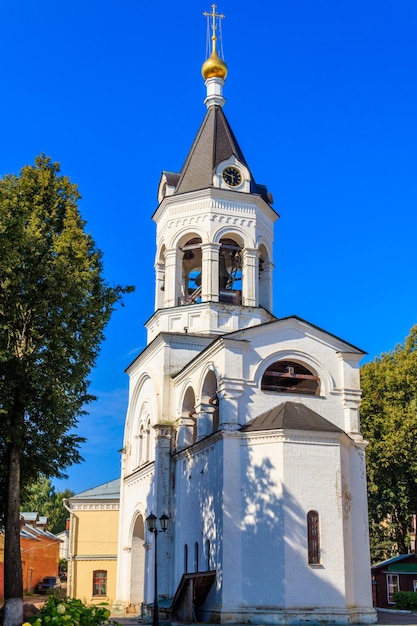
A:
[[[202,66],[207,112],[180,173],[162,172],[156,223],[155,313],[160,332],[223,334],[272,315],[272,196],[250,171],[223,112],[227,65],[219,56],[223,14],[204,13],[211,30]]]

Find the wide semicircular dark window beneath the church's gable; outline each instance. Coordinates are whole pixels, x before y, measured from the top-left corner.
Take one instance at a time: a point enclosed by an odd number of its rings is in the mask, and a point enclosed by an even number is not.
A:
[[[314,396],[319,392],[319,377],[300,363],[277,361],[262,376],[261,389]]]

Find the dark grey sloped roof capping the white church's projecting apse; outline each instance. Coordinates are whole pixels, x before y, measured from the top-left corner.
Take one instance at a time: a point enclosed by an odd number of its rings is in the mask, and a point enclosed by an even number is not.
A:
[[[241,431],[255,432],[281,429],[343,432],[338,426],[298,402],[284,402],[269,411],[265,411],[242,426]]]

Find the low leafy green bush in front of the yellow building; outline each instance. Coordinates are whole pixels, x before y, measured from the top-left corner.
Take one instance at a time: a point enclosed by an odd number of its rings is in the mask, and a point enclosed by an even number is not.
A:
[[[37,615],[30,618],[34,626],[101,626],[118,622],[109,620],[110,611],[103,607],[86,606],[81,600],[51,596]]]

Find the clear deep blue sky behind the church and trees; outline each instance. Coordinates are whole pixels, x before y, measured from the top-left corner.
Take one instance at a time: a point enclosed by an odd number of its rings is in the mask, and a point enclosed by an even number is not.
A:
[[[415,0],[218,0],[226,116],[276,225],[274,312],[369,353],[417,322]],[[0,175],[44,152],[79,185],[114,314],[59,489],[119,475],[128,380],[154,304],[151,215],[205,114],[210,1],[4,0]]]

